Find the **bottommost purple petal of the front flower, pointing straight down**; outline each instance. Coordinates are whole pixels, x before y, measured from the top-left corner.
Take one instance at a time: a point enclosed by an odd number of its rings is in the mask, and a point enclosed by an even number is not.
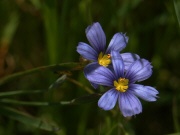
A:
[[[120,93],[119,108],[124,117],[136,115],[142,112],[142,105],[139,99],[131,92]]]

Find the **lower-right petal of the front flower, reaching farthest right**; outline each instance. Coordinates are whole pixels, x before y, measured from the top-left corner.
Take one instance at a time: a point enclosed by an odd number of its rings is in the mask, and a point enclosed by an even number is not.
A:
[[[136,96],[142,98],[145,101],[156,101],[156,95],[159,93],[153,87],[143,86],[139,84],[131,84],[129,90],[131,90]]]

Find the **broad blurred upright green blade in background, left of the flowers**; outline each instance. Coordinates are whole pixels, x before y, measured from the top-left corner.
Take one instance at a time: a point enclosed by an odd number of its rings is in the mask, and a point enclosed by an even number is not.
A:
[[[49,54],[49,62],[51,64],[57,63],[58,61],[58,50],[60,50],[58,43],[59,29],[58,29],[58,14],[57,14],[57,2],[53,1],[43,1],[42,4],[42,14],[44,19],[44,27],[46,30],[46,44],[47,51]]]

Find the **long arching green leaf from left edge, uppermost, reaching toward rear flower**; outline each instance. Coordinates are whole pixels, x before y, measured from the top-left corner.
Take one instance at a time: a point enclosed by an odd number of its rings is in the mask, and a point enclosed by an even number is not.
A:
[[[74,63],[74,62],[37,67],[37,68],[33,68],[30,70],[26,70],[26,71],[22,71],[22,72],[18,72],[18,73],[14,73],[12,75],[6,76],[0,80],[0,85],[3,85],[9,81],[12,81],[18,77],[22,77],[24,75],[28,75],[32,73],[53,71],[53,72],[59,72],[59,73],[65,74],[70,71],[80,70],[81,68],[82,66],[79,63]]]

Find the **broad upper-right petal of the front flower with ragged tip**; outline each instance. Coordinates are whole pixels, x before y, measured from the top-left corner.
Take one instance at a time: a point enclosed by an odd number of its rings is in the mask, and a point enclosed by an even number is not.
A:
[[[127,72],[126,77],[130,82],[143,81],[152,75],[152,66],[148,60],[139,59],[133,62]]]

